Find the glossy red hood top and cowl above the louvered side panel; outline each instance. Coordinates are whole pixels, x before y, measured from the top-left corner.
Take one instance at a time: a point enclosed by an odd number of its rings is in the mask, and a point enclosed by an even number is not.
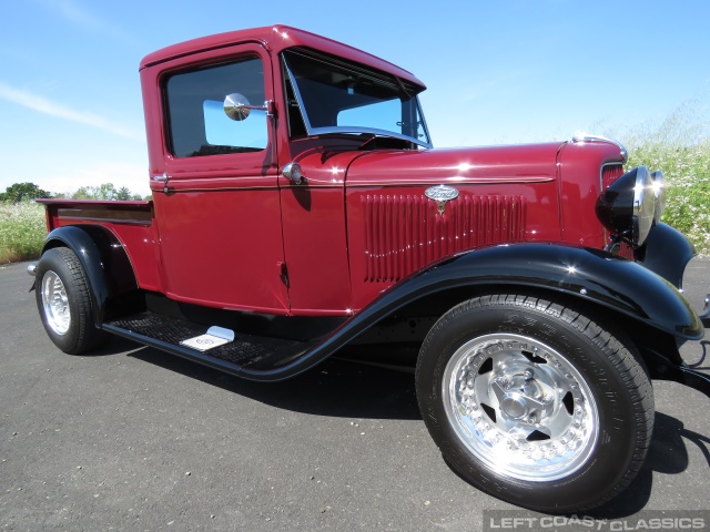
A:
[[[535,183],[556,178],[564,143],[423,151],[312,153],[300,163],[312,185]]]

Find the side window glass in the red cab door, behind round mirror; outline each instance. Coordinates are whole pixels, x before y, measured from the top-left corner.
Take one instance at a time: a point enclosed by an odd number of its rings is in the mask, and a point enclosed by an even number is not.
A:
[[[264,68],[257,58],[171,75],[165,83],[170,150],[176,157],[258,152],[266,147],[266,112],[246,120],[224,114],[226,95],[264,103]]]

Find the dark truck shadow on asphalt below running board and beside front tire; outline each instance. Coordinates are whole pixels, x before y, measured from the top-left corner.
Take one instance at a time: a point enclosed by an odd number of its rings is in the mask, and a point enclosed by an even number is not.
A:
[[[120,341],[116,347],[124,351],[138,347],[128,340],[116,340]],[[118,351],[110,348],[110,352]],[[422,419],[412,374],[331,359],[294,379],[261,383],[145,347],[129,356],[285,410],[359,419]],[[619,519],[646,509],[653,473],[680,474],[688,469],[689,443],[700,449],[710,466],[710,438],[688,430],[678,419],[657,411],[651,446],[636,480],[621,495],[585,513],[596,519]]]

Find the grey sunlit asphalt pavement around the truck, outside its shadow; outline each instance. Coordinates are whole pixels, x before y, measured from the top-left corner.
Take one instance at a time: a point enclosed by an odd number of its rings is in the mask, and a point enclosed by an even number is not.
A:
[[[334,360],[261,385],[119,338],[64,355],[24,268],[0,266],[1,531],[468,532],[514,510],[446,466],[412,375]],[[708,288],[696,259],[691,303]],[[710,372],[709,347],[682,352]],[[599,518],[710,510],[710,398],[673,382],[655,396],[646,466]]]

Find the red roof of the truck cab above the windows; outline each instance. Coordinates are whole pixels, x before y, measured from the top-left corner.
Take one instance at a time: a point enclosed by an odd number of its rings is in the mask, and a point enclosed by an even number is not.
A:
[[[266,48],[266,50],[276,54],[288,48],[310,48],[388,72],[397,78],[426,88],[426,85],[410,72],[371,53],[325,37],[316,35],[315,33],[281,24],[217,33],[173,44],[145,55],[141,61],[141,70],[172,59],[207,50],[226,48],[243,42],[258,42]]]

